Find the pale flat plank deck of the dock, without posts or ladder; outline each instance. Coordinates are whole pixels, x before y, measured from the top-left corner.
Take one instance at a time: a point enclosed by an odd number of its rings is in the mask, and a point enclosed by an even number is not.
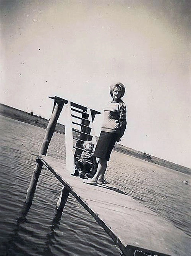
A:
[[[191,238],[115,186],[84,184],[70,176],[65,163],[49,156],[39,159],[91,213],[125,255],[139,249],[159,256],[188,256]]]

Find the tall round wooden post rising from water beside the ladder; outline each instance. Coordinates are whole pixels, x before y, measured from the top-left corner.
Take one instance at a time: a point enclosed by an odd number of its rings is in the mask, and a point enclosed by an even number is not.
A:
[[[39,150],[39,154],[44,154],[44,155],[47,154],[50,140],[52,138],[53,132],[54,132],[56,124],[57,124],[58,117],[60,116],[60,112],[62,111],[62,108],[64,105],[64,102],[62,100],[57,100],[57,99],[55,99],[55,100],[56,100],[56,105],[54,104],[55,107],[53,108],[53,113],[49,120],[47,130],[45,132],[45,136],[44,136],[44,139],[42,141],[42,144],[41,144],[41,147]],[[26,199],[25,199],[25,204],[27,204],[28,208],[31,207],[32,200],[33,200],[34,193],[35,193],[36,186],[37,186],[37,182],[38,182],[40,172],[41,172],[42,166],[43,166],[43,163],[39,159],[37,159],[36,162],[37,163],[34,168],[34,171],[32,172],[31,181],[30,181],[29,188],[27,190]]]

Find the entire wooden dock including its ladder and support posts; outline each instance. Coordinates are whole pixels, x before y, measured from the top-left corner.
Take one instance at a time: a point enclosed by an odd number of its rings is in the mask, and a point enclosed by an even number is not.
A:
[[[191,252],[191,239],[183,231],[113,185],[89,185],[79,177],[70,175],[70,172],[74,172],[74,162],[83,150],[84,141],[92,139],[96,144],[93,122],[95,115],[100,112],[57,96],[50,98],[54,100],[52,115],[39,149],[19,220],[26,220],[42,166],[45,165],[64,186],[57,203],[60,217],[71,193],[111,236],[124,255],[188,256]],[[46,154],[65,104],[66,159],[61,161]],[[76,125],[81,127],[80,130],[76,129]],[[94,167],[96,168],[96,163]]]

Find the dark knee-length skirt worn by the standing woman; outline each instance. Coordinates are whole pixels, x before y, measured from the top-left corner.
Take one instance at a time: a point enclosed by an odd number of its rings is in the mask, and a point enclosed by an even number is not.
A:
[[[96,158],[103,158],[109,161],[110,154],[112,153],[112,149],[118,137],[119,135],[117,133],[107,133],[106,131],[101,131],[95,147],[94,156]]]

